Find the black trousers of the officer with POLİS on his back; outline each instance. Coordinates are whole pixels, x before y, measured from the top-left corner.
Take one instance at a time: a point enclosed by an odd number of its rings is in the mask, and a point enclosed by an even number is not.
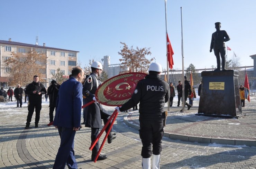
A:
[[[139,119],[139,137],[142,142],[141,156],[149,158],[152,155],[159,155],[162,151],[162,138],[164,135],[163,120]],[[151,150],[151,144],[153,151]]]

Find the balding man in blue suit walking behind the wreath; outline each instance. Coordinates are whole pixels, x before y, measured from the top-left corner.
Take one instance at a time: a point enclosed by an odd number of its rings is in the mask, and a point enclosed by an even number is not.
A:
[[[53,169],[64,169],[66,164],[69,169],[77,169],[74,137],[80,129],[83,77],[82,68],[74,67],[71,77],[61,84],[58,92],[53,125],[58,128],[61,145]]]

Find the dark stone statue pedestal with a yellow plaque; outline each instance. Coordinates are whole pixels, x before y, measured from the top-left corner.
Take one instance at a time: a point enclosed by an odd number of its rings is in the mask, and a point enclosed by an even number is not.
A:
[[[203,71],[198,114],[232,118],[242,115],[238,71]]]

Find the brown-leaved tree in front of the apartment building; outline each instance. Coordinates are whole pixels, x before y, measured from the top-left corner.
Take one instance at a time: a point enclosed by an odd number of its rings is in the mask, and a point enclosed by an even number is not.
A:
[[[41,82],[42,73],[46,72],[46,54],[32,50],[27,56],[19,56],[11,53],[11,58],[4,61],[6,67],[9,68],[9,76],[11,85],[29,83],[33,80],[34,75],[38,75]]]

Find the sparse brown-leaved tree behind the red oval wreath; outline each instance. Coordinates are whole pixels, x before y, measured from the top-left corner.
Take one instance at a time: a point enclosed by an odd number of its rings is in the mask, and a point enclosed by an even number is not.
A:
[[[147,59],[147,55],[151,55],[150,48],[140,48],[137,46],[136,49],[131,46],[130,48],[127,46],[126,43],[120,42],[123,47],[118,52],[119,55],[122,56],[122,59],[119,59],[121,62],[120,67],[123,70],[127,70],[127,68],[130,69],[131,72],[143,72],[147,73],[149,65],[152,61],[155,60],[155,58]],[[129,71],[123,71],[120,73],[126,73]]]

